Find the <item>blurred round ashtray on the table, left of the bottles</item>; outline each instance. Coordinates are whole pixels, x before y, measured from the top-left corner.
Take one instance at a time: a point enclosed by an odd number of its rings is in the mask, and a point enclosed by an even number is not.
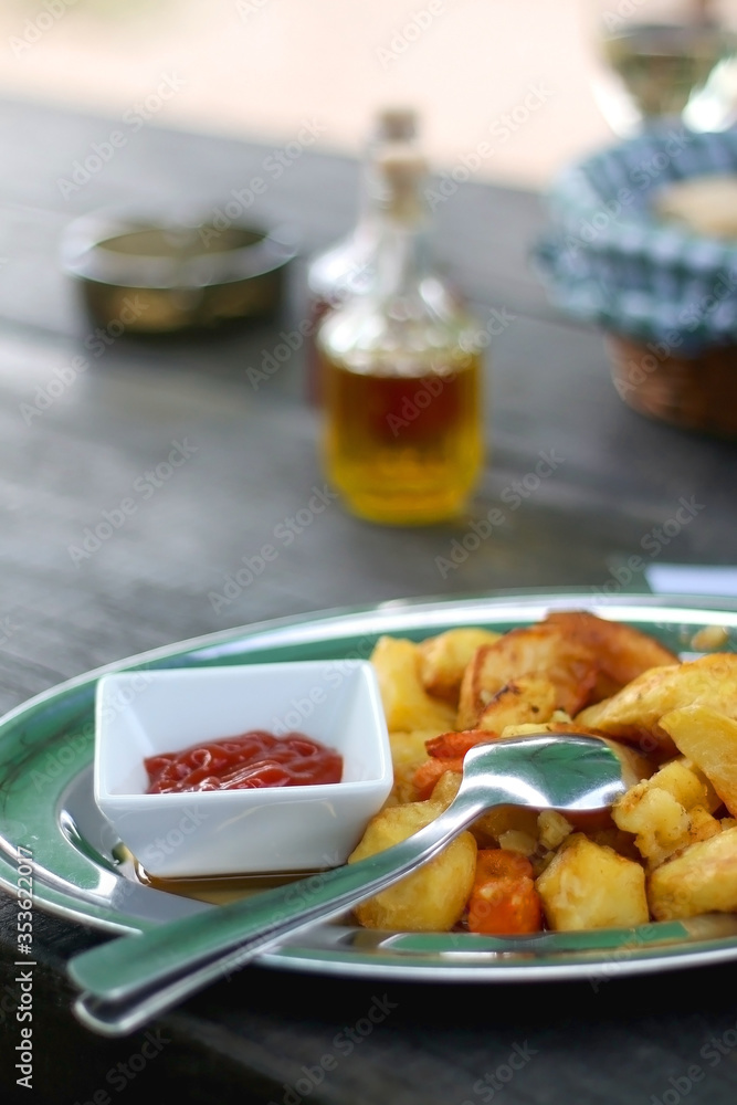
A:
[[[165,334],[272,314],[296,252],[291,227],[93,214],[66,229],[62,265],[98,323]]]

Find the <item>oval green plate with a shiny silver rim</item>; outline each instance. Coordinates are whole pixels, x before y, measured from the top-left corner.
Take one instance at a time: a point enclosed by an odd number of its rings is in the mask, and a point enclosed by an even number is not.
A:
[[[187,913],[217,908],[154,890],[122,873],[117,839],[92,794],[94,696],[109,671],[365,659],[381,634],[420,640],[454,625],[506,630],[552,609],[589,609],[695,655],[694,634],[723,627],[737,643],[737,602],[566,591],[410,600],[229,630],[91,672],[36,696],[0,720],[0,885],[15,894],[19,857],[32,857],[39,909],[109,933],[143,932]],[[423,981],[544,981],[611,977],[737,958],[737,915],[597,933],[502,939],[468,934],[376,933],[324,925],[264,955],[286,970]]]

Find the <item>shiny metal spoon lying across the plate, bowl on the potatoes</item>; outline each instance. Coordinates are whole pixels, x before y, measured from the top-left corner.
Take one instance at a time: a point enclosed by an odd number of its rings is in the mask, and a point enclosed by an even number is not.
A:
[[[86,991],[74,1012],[96,1032],[125,1035],[285,936],[397,882],[485,810],[515,804],[596,811],[624,790],[620,759],[597,737],[546,733],[477,745],[466,753],[461,788],[448,809],[385,852],[74,957],[70,977]]]

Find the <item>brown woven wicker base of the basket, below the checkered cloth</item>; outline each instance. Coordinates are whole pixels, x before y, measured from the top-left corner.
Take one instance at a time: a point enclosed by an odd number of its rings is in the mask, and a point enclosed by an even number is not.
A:
[[[685,430],[737,438],[737,346],[693,359],[657,355],[657,346],[609,335],[612,379],[633,410]],[[661,347],[662,348],[662,347]]]

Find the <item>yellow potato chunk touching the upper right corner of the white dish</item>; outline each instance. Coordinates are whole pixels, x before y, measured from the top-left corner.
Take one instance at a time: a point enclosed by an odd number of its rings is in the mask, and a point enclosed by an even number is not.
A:
[[[381,636],[371,653],[381,702],[390,733],[434,729],[435,734],[453,728],[452,705],[432,698],[420,677],[420,653],[413,641]]]

